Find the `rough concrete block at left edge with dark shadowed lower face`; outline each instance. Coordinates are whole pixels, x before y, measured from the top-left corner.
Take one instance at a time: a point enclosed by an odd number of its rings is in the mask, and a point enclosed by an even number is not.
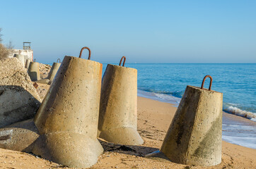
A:
[[[0,61],[0,127],[33,118],[40,96],[18,58]]]

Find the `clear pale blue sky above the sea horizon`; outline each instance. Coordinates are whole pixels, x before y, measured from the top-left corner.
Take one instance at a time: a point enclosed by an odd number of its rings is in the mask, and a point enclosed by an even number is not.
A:
[[[4,44],[52,63],[256,63],[256,1],[0,1]],[[83,58],[87,58],[85,51]]]

